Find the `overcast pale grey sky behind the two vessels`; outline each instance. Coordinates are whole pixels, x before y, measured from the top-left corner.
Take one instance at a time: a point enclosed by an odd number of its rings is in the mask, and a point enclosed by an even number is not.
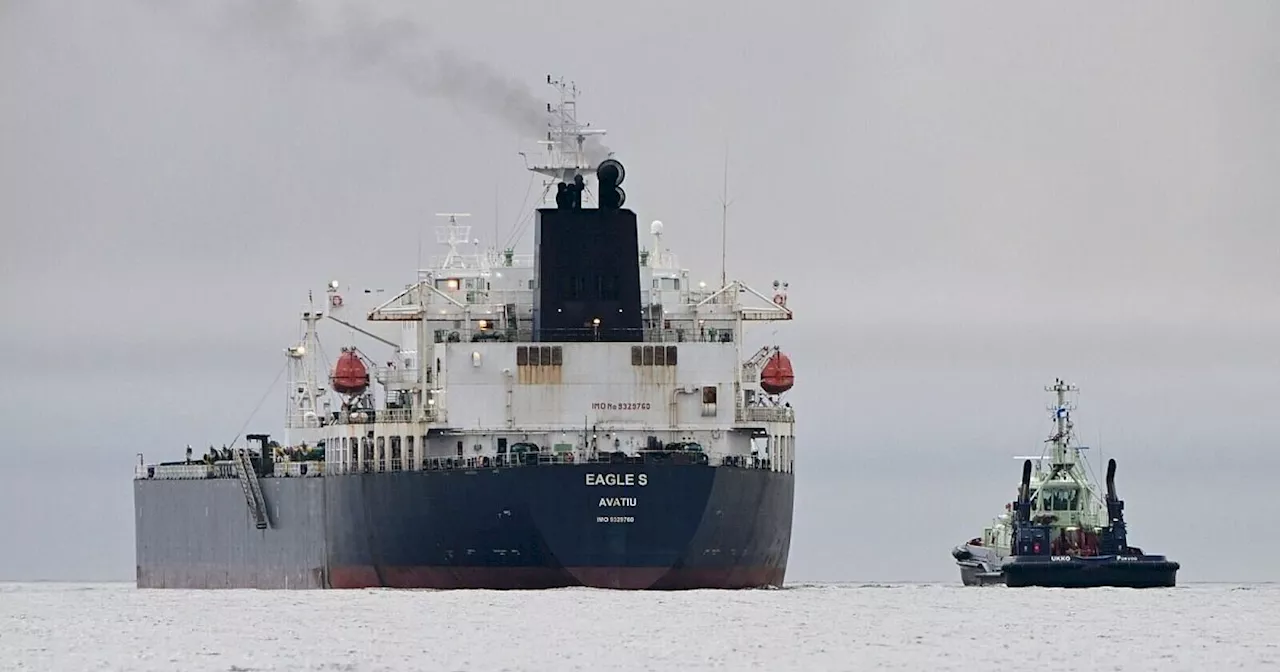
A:
[[[1280,579],[1245,535],[1280,511],[1280,6],[362,5],[351,54],[230,4],[0,5],[0,577],[132,577],[133,454],[234,436],[307,289],[408,282],[436,211],[506,239],[529,143],[490,96],[553,73],[708,282],[728,147],[730,275],[797,312],[788,579],[956,580],[1055,376],[1138,545]]]

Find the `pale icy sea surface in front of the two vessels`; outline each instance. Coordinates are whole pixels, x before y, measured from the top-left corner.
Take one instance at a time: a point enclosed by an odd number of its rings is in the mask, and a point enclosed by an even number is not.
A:
[[[1280,585],[506,593],[0,584],[4,671],[1010,668],[1280,671]]]

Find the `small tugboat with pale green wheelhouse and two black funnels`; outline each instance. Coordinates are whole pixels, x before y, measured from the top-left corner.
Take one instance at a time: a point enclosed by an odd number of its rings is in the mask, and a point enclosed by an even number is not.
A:
[[[1098,495],[1089,479],[1082,453],[1087,447],[1074,440],[1074,406],[1066,401],[1066,393],[1076,388],[1059,379],[1044,389],[1057,402],[1050,406],[1055,419],[1055,431],[1046,440],[1050,454],[1020,457],[1018,499],[1005,504],[1005,513],[982,536],[951,550],[961,581],[966,586],[1172,588],[1176,562],[1129,545],[1124,500],[1115,488],[1116,461],[1107,461],[1105,495]]]

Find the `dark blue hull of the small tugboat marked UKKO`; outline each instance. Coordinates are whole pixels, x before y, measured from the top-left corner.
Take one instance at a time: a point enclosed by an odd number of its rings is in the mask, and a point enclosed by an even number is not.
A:
[[[1011,588],[1174,588],[1179,564],[1164,556],[1014,556],[1002,568]]]

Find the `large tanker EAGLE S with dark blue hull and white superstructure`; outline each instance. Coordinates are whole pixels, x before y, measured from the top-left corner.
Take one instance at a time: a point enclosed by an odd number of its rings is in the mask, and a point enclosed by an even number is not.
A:
[[[603,131],[548,83],[532,253],[470,253],[444,214],[396,296],[329,282],[284,349],[283,440],[138,456],[138,588],[783,584],[795,372],[746,328],[792,319],[787,284],[708,287],[662,223],[641,239]],[[351,339],[332,366],[321,325]]]

